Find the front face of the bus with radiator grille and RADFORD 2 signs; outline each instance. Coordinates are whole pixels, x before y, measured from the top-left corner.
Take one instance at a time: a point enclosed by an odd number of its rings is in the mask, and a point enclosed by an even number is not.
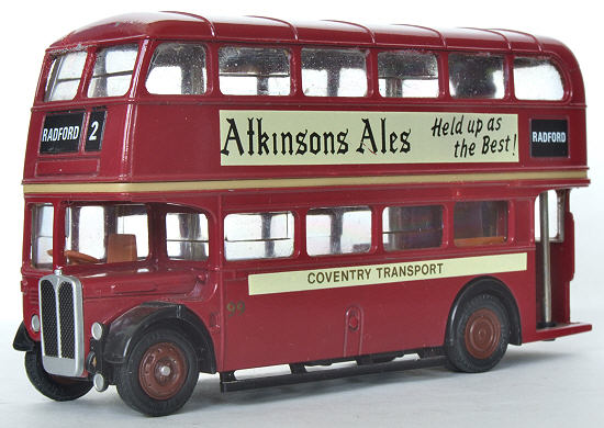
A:
[[[91,322],[82,311],[89,292],[79,275],[107,274],[103,264],[144,269],[153,254],[148,206],[119,195],[90,201],[61,188],[127,179],[124,147],[139,50],[137,40],[59,42],[43,63],[25,156],[24,322],[14,345],[26,351],[32,383],[55,399],[91,387],[85,368]],[[63,380],[53,384],[48,374]]]

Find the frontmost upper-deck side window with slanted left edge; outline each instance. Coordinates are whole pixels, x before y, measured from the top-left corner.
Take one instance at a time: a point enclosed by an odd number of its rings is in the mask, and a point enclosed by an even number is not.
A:
[[[205,92],[205,49],[192,43],[164,43],[153,54],[149,93],[197,95]]]

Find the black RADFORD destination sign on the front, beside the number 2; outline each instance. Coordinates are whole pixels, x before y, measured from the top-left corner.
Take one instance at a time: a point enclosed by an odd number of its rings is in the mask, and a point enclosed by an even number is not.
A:
[[[41,154],[78,151],[83,112],[52,114],[44,119],[40,138]]]

